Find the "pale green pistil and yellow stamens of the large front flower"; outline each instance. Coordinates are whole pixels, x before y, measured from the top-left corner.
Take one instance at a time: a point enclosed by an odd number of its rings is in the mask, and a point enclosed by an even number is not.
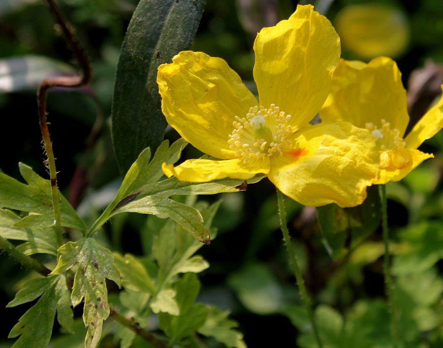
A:
[[[293,133],[290,120],[291,115],[286,115],[274,104],[267,109],[253,106],[246,117],[235,116],[235,129],[229,134],[229,148],[235,156],[243,157],[244,162],[279,156],[292,146],[292,142],[286,139]]]

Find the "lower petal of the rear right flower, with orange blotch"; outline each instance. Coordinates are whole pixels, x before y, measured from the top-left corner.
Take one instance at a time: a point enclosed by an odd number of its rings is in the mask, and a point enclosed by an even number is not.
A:
[[[374,184],[400,181],[427,158],[434,155],[414,149],[380,151],[380,177]]]

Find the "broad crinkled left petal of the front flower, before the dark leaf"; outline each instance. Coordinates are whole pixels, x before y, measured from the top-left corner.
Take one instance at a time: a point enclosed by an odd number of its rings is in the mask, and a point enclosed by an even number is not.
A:
[[[229,149],[234,117],[257,105],[253,94],[225,61],[184,51],[158,67],[157,83],[166,121],[200,151],[235,158]]]

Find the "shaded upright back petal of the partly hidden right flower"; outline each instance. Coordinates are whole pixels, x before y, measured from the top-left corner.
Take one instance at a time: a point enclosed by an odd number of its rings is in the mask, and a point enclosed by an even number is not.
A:
[[[397,64],[386,57],[368,64],[340,60],[320,118],[323,122],[346,121],[360,128],[372,123],[379,129],[385,120],[403,136],[409,115]]]

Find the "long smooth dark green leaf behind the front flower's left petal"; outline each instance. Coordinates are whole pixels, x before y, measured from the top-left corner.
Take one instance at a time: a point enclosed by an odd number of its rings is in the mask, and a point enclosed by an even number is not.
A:
[[[190,48],[205,2],[140,1],[132,16],[117,65],[111,115],[122,176],[143,149],[155,151],[163,139],[167,123],[161,113],[157,68]]]

